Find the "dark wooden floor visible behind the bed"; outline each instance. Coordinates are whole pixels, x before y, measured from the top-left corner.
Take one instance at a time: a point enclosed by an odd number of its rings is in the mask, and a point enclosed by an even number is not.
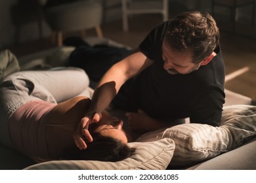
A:
[[[129,18],[129,32],[124,33],[120,21],[102,25],[104,37],[136,48],[147,33],[161,23],[161,16],[133,16]],[[255,34],[256,32],[253,31]],[[78,33],[72,33],[78,35]],[[64,35],[65,37],[70,36]],[[87,31],[87,36],[96,36],[95,30]],[[17,56],[51,48],[50,38],[27,42],[10,48]],[[228,34],[221,31],[221,48],[228,80],[225,88],[256,99],[256,39]]]

